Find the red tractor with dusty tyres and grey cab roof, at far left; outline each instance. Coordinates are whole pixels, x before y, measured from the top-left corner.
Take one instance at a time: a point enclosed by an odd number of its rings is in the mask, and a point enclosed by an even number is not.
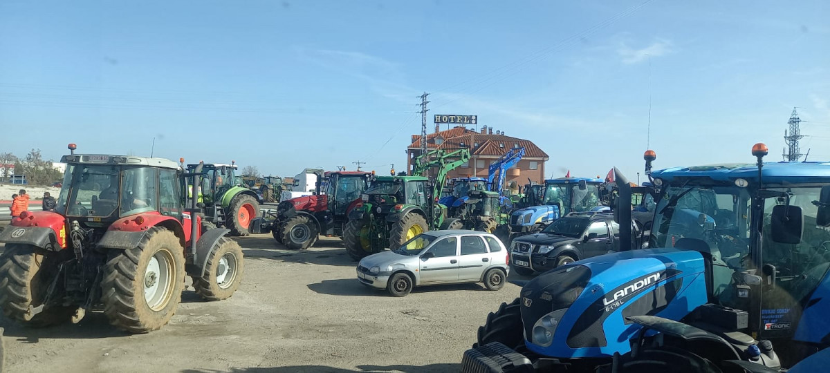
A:
[[[115,327],[144,333],[173,317],[186,275],[207,300],[236,291],[242,248],[203,225],[196,193],[186,198],[185,179],[201,170],[69,149],[56,211],[24,211],[0,233],[6,317],[42,326],[103,309]]]

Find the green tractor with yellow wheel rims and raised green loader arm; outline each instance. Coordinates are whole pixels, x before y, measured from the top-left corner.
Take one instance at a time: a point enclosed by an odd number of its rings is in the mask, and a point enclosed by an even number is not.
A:
[[[354,260],[398,247],[427,230],[438,230],[447,206],[437,202],[447,172],[470,160],[470,152],[433,150],[416,159],[417,176],[374,177],[343,230],[346,252]],[[434,180],[427,171],[437,167]]]

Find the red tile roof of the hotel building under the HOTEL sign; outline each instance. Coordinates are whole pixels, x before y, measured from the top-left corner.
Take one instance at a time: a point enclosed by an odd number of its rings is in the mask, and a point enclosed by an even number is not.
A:
[[[438,136],[444,140],[440,145],[436,145],[434,139]],[[464,145],[461,146],[461,143]],[[473,147],[478,143],[478,147]],[[504,148],[500,144],[504,144]],[[513,138],[500,134],[477,133],[471,129],[456,127],[438,133],[427,133],[427,148],[468,148],[472,155],[494,156],[500,157],[510,151],[516,144],[519,147],[525,148],[525,157],[539,157],[549,159],[548,153],[544,153],[542,149],[536,146],[530,140],[522,138]],[[409,148],[421,148],[421,135],[413,135],[413,143]]]

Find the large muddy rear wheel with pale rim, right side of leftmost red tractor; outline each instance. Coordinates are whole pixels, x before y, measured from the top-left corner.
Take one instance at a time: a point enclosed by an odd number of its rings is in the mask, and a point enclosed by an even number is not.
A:
[[[110,323],[127,332],[163,327],[182,300],[184,249],[172,231],[153,227],[132,249],[110,250],[101,301]]]

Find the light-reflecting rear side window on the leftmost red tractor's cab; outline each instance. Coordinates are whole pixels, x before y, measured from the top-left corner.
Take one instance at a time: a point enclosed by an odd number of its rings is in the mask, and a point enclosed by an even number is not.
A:
[[[150,167],[125,168],[121,177],[120,216],[155,211],[158,207],[156,169]]]

